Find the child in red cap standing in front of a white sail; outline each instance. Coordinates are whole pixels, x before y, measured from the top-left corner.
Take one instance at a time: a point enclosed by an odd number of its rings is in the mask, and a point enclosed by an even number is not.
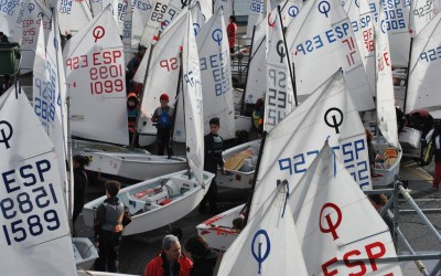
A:
[[[166,153],[169,157],[173,155],[172,149],[169,146],[170,131],[173,125],[173,107],[169,106],[169,95],[165,93],[159,97],[161,106],[158,107],[151,120],[157,126],[157,142],[158,142],[158,156],[164,155],[164,149],[166,148]]]

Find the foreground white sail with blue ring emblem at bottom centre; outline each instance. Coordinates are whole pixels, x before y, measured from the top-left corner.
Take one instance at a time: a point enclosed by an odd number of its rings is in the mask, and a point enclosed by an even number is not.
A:
[[[276,185],[277,179],[267,179]],[[283,184],[248,220],[224,254],[217,275],[308,275]]]

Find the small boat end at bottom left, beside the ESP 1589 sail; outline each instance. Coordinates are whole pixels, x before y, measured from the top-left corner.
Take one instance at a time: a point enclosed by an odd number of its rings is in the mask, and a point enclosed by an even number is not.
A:
[[[98,251],[87,237],[73,237],[72,246],[76,267],[79,269],[90,269],[95,259],[98,258]]]

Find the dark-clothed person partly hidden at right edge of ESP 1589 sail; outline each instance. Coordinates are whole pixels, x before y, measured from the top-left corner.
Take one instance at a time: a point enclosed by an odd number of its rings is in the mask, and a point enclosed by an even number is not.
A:
[[[73,224],[83,211],[84,203],[86,201],[86,188],[88,185],[87,174],[84,169],[85,166],[89,166],[89,158],[86,156],[74,156],[74,212],[72,215]]]

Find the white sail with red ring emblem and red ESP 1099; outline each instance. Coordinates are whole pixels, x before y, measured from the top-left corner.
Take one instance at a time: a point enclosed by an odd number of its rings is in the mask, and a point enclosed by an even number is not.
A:
[[[108,6],[64,49],[72,135],[128,145],[122,42]]]

